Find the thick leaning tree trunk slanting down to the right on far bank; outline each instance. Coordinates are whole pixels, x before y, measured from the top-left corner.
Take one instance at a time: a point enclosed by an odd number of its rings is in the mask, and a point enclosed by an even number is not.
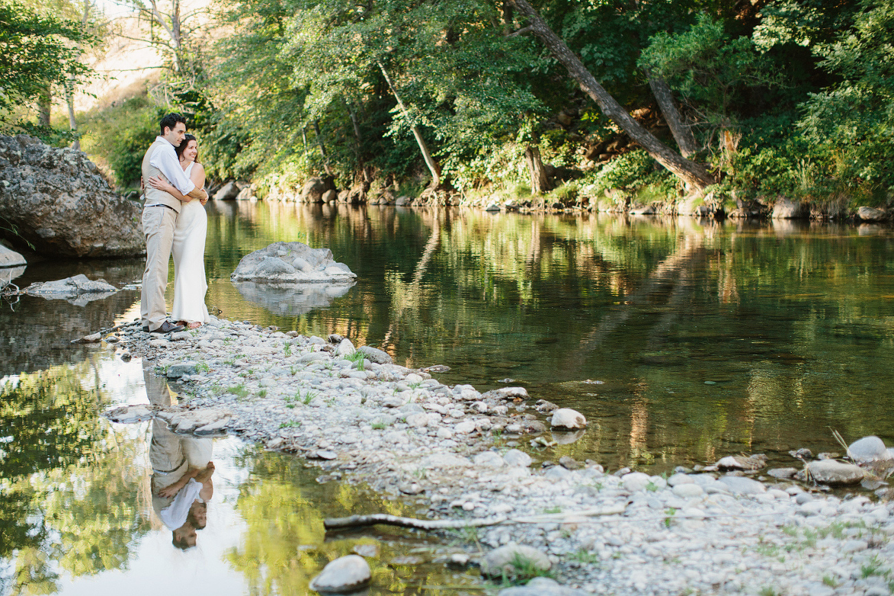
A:
[[[525,15],[530,21],[527,29],[544,42],[547,49],[566,69],[571,77],[578,81],[580,89],[593,98],[599,108],[611,120],[627,132],[631,139],[636,140],[643,149],[648,151],[662,166],[671,170],[680,180],[696,189],[703,189],[716,181],[713,176],[701,164],[683,158],[679,153],[670,149],[658,140],[654,134],[645,130],[642,124],[637,123],[618,102],[612,98],[608,91],[600,85],[595,77],[586,70],[586,66],[577,55],[570,50],[561,38],[540,18],[534,7],[527,0],[508,0],[519,13]]]

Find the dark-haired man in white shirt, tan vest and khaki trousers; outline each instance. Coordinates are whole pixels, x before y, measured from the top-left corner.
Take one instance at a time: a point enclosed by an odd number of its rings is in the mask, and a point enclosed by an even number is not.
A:
[[[175,147],[180,147],[186,134],[186,119],[179,114],[168,114],[159,123],[161,134],[149,146],[143,157],[143,180],[162,175],[184,196],[205,199],[207,194],[196,188],[183,173]],[[182,331],[167,319],[164,289],[167,287],[168,261],[171,260],[173,228],[177,225],[181,201],[173,195],[146,184],[146,202],[143,206],[143,234],[146,234],[146,270],[143,272],[143,288],[140,293],[140,316],[143,331],[171,333]]]

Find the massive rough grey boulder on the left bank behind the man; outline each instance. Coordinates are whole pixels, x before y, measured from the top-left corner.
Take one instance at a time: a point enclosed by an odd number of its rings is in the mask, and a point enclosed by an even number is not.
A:
[[[137,256],[146,252],[141,210],[80,151],[0,135],[0,213],[18,231],[11,242],[62,257]]]

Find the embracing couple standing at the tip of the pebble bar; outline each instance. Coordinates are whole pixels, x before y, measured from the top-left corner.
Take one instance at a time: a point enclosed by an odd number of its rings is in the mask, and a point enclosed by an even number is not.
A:
[[[171,333],[207,323],[205,294],[205,237],[208,194],[205,168],[198,163],[196,137],[186,133],[186,119],[169,114],[159,123],[161,134],[143,158],[146,202],[146,270],[140,294],[143,331]],[[164,289],[173,253],[174,294],[167,319]]]

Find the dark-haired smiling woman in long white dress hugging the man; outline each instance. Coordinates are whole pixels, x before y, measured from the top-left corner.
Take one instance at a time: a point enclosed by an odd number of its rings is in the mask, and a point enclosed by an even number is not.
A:
[[[184,174],[197,188],[205,186],[205,168],[198,163],[198,141],[191,134],[184,135],[177,157]],[[155,188],[183,201],[177,227],[173,232],[173,309],[171,318],[190,329],[201,327],[210,321],[205,305],[208,284],[205,278],[205,236],[208,216],[205,200],[185,197],[162,176],[149,178]]]

